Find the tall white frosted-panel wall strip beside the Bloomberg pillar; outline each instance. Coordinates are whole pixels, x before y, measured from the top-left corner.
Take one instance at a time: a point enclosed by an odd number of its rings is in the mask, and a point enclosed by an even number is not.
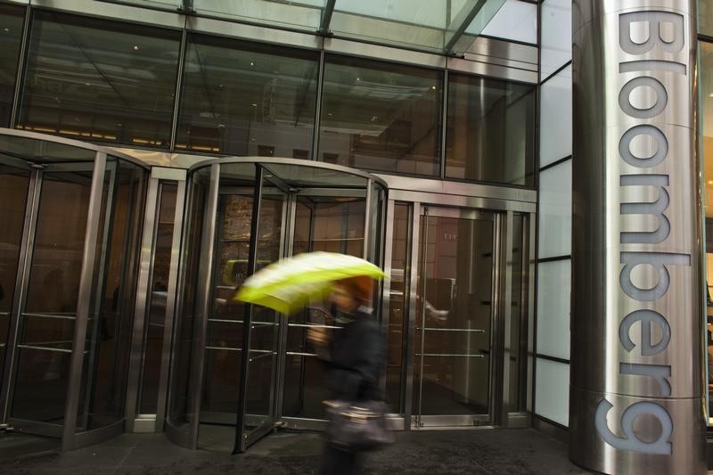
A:
[[[534,412],[569,423],[572,175],[570,0],[540,11],[539,205]]]

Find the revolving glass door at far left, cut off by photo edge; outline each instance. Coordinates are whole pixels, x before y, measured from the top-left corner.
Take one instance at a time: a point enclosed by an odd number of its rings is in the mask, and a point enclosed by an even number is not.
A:
[[[3,422],[61,438],[64,449],[118,435],[148,170],[93,145],[6,129],[0,170],[0,219],[12,223]]]

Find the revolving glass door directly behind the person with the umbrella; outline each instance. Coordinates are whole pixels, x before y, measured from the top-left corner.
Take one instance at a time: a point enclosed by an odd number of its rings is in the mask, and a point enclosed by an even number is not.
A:
[[[381,264],[385,184],[318,162],[221,159],[192,168],[188,186],[168,438],[242,452],[278,425],[323,427],[324,369],[306,336],[327,324],[324,306],[288,320],[234,293],[259,268],[300,252]]]

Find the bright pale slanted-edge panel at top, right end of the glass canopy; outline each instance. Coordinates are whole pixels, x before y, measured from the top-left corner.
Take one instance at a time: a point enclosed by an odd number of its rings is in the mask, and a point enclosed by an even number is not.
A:
[[[507,0],[483,29],[483,35],[537,45],[537,4]]]

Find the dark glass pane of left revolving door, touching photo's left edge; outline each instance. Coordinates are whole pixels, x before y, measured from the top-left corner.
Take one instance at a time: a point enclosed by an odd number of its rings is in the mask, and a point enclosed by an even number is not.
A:
[[[29,171],[6,167],[0,162],[0,217],[3,217],[0,226],[0,368],[4,368],[28,190]],[[0,376],[2,373],[0,370]]]

